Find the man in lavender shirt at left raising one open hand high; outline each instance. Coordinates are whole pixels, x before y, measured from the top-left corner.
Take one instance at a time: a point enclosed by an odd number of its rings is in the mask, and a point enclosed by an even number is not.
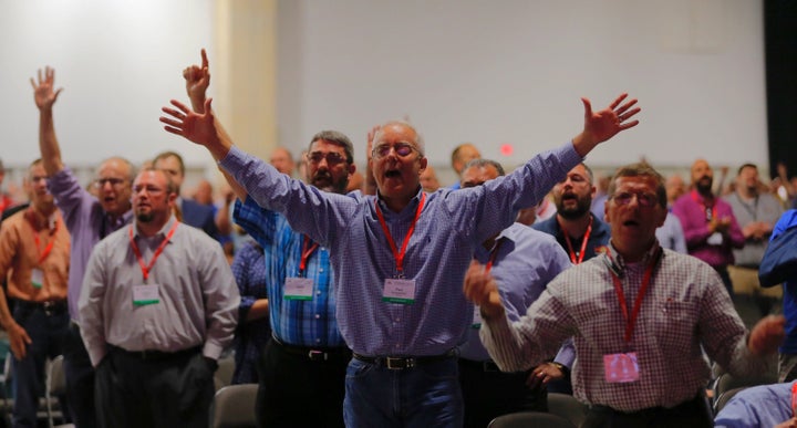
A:
[[[92,184],[94,197],[77,182],[72,170],[61,160],[61,148],[55,136],[53,104],[61,90],[54,91],[55,71],[39,71],[38,81],[31,79],[33,96],[39,107],[39,149],[42,165],[50,178],[50,192],[61,210],[72,238],[69,270],[70,333],[64,342],[64,370],[66,397],[72,420],[79,428],[96,426],[94,415],[94,369],[80,335],[77,299],[89,257],[96,243],[130,222],[133,165],[120,157],[100,164]]]

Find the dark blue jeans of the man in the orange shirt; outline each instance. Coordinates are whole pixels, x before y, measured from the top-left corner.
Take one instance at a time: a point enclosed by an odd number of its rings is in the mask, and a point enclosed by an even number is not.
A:
[[[60,313],[48,314],[41,307],[19,303],[14,307],[13,319],[31,338],[25,357],[12,359],[13,426],[35,427],[39,397],[44,395],[44,362],[48,357],[61,355],[69,314],[65,307]]]

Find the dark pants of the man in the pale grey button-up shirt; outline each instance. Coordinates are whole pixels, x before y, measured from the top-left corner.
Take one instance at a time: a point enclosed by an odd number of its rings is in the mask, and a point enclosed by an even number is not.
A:
[[[214,370],[199,348],[152,357],[108,346],[96,367],[97,420],[106,428],[205,428]]]

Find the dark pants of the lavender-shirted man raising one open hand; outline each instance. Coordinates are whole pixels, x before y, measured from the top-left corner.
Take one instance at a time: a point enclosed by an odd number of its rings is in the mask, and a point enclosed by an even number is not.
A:
[[[70,324],[63,345],[66,401],[77,428],[95,428],[94,367],[83,344],[77,324]]]

